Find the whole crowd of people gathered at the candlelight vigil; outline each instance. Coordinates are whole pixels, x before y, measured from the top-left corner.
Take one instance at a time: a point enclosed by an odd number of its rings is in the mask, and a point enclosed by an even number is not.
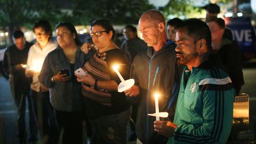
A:
[[[143,40],[126,25],[120,47],[105,19],[92,21],[92,42],[84,44],[69,22],[56,25],[57,41],[46,20],[34,24],[35,44],[15,31],[3,66],[18,108],[20,143],[28,136],[26,98],[30,142],[39,140],[40,104],[46,143],[83,143],[83,121],[90,143],[126,143],[129,121],[129,140],[136,143],[226,143],[234,97],[244,84],[242,62],[236,42],[225,37],[225,21],[217,18],[219,7],[205,8],[206,22],[174,18],[167,24],[150,9],[138,22]],[[122,79],[115,64],[124,79],[135,80],[124,92],[117,91]],[[79,68],[85,73],[76,73]],[[160,120],[148,116],[156,112],[156,92],[159,111],[168,113]]]

